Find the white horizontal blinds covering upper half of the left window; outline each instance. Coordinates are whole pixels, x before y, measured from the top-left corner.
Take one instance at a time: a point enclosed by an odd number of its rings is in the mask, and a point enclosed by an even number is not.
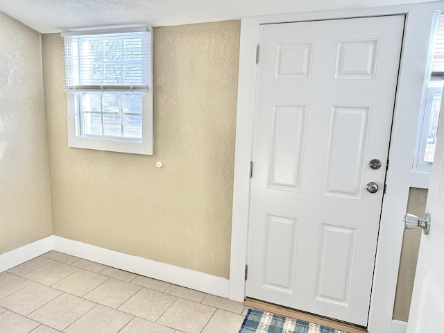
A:
[[[147,28],[63,33],[65,91],[147,91]]]

